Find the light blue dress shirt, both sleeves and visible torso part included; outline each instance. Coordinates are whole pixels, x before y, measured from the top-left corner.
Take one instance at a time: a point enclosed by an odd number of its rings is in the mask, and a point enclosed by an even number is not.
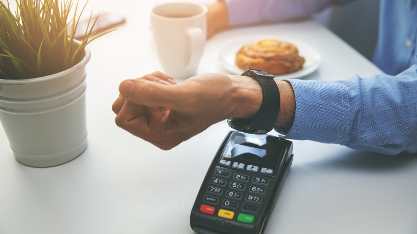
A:
[[[307,16],[336,2],[224,1],[232,25]],[[381,0],[379,21],[373,62],[386,74],[343,81],[287,80],[296,101],[287,138],[390,155],[417,152],[417,0]]]

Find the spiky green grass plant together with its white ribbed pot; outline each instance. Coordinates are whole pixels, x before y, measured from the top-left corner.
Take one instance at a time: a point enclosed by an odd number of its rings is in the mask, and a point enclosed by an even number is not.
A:
[[[13,13],[0,2],[0,121],[15,158],[29,166],[63,164],[87,147],[86,46],[110,31],[97,35],[90,14],[85,38],[75,40],[86,5],[80,14],[73,5],[16,0]]]

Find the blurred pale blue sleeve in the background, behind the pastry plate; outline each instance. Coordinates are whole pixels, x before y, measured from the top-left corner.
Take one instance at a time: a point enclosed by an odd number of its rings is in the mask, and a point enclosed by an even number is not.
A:
[[[229,12],[229,24],[256,23],[307,17],[330,3],[349,0],[223,0]]]

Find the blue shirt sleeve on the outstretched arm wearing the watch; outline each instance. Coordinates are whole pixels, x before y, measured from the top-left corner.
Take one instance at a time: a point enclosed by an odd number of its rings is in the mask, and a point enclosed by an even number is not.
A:
[[[287,81],[296,111],[286,138],[389,155],[417,152],[417,65],[396,76]]]

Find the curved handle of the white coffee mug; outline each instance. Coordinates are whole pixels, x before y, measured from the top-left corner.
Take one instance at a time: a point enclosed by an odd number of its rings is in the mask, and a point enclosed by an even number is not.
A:
[[[190,71],[197,67],[198,61],[200,60],[204,51],[204,43],[206,42],[206,38],[201,28],[191,27],[187,28],[186,31],[191,41],[191,53],[190,60],[188,61],[188,64],[184,70]]]

